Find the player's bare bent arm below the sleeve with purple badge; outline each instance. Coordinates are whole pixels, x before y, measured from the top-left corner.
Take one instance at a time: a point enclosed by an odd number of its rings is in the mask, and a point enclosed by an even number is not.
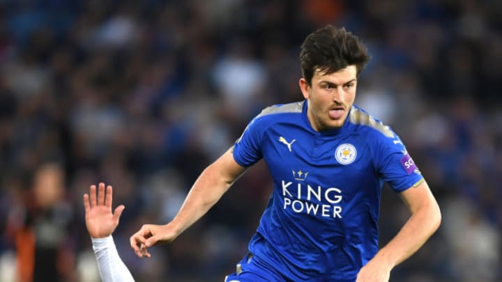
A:
[[[441,224],[441,211],[427,182],[400,193],[411,217],[397,235],[358,273],[357,282],[388,281],[390,271],[423,246]]]

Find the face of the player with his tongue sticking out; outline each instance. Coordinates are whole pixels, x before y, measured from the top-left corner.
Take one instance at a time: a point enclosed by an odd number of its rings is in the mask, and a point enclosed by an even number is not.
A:
[[[356,65],[326,74],[314,72],[312,86],[303,78],[299,81],[303,97],[307,99],[307,117],[314,130],[342,127],[356,98]]]

